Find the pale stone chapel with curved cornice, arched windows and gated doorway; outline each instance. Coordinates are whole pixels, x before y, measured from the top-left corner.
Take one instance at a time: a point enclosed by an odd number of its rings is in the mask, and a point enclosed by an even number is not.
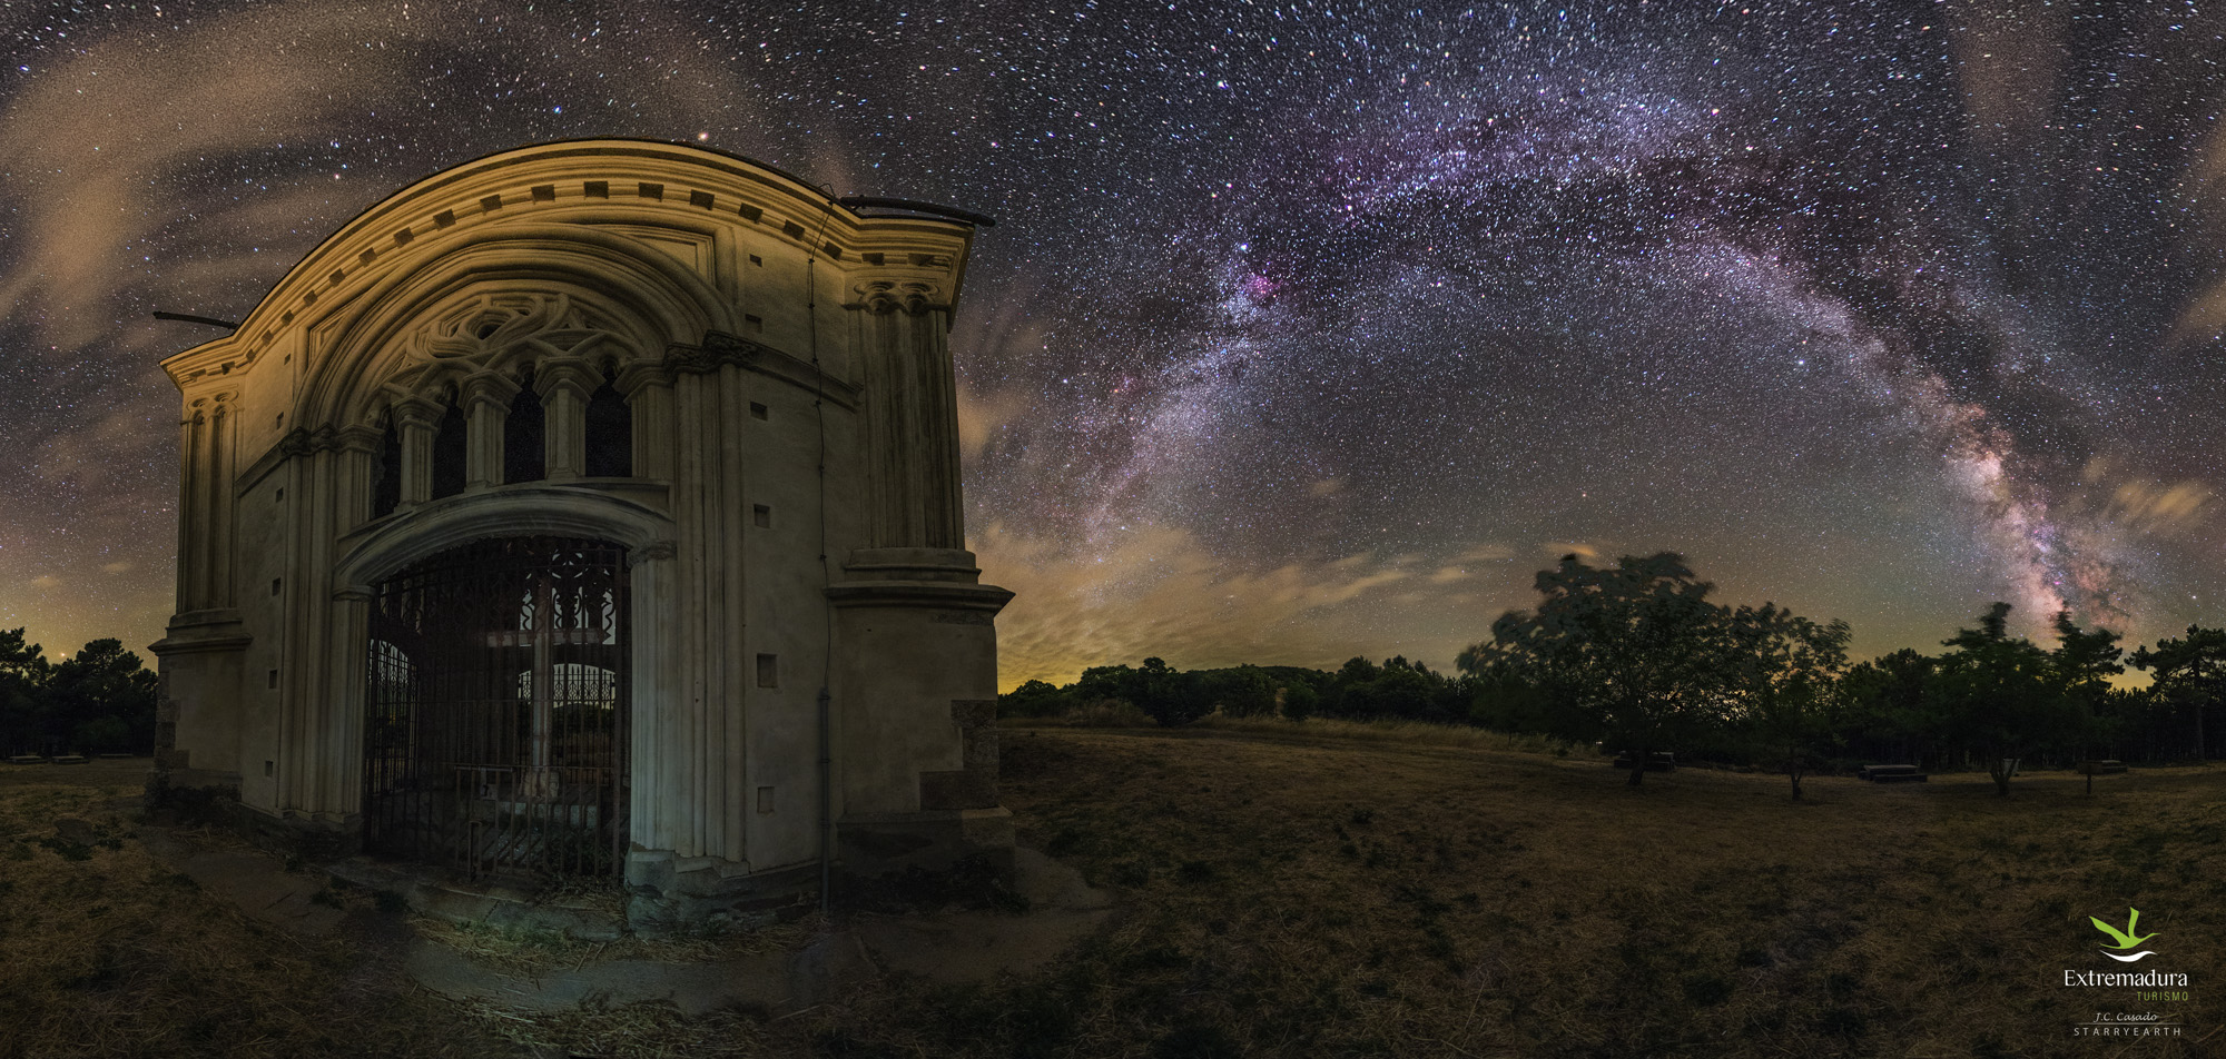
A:
[[[637,917],[979,857],[993,616],[951,316],[982,218],[643,140],[349,220],[183,392],[158,783]]]

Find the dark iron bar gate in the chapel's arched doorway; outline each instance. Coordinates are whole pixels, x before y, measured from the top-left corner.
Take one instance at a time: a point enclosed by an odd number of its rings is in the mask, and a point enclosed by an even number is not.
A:
[[[378,585],[363,845],[470,877],[626,863],[626,550],[476,541]]]

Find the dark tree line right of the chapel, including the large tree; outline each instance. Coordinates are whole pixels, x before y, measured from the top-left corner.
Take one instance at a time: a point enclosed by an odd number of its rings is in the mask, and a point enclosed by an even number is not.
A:
[[[1983,768],[2008,794],[2019,768],[2081,759],[2128,763],[2226,756],[2226,630],[2126,652],[2119,634],[2052,614],[2055,647],[2012,636],[1994,603],[1941,641],[1850,663],[1845,621],[1810,621],[1774,603],[1723,605],[1683,556],[1661,552],[1594,567],[1563,556],[1536,576],[1540,601],[1491,623],[1460,652],[1458,674],[1393,656],[1336,672],[1296,665],[1175,670],[1097,665],[1075,683],[1026,681],[999,696],[1006,716],[1055,716],[1129,703],[1160,725],[1211,712],[1409,719],[1598,743],[1647,761],[1759,765],[1801,779],[1819,768],[1912,763]],[[2126,667],[2148,687],[2115,687]],[[1634,768],[1629,783],[1643,783]]]

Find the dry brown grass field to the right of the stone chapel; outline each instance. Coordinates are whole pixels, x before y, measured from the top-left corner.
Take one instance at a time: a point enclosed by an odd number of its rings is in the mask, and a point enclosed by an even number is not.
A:
[[[919,990],[855,1055],[2041,1057],[2222,1052],[2226,770],[1997,799],[1378,739],[1006,730],[1022,841],[1126,892],[1060,972]],[[2088,917],[2141,908],[2186,1003]],[[2072,1039],[2159,1012],[2179,1039]]]

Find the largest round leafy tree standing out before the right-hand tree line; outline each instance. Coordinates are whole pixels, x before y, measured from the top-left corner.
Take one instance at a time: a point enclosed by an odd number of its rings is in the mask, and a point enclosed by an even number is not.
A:
[[[1636,756],[1696,739],[1739,692],[1730,612],[1685,558],[1661,552],[1594,567],[1563,556],[1538,572],[1536,612],[1511,610],[1491,641],[1460,652],[1462,672],[1520,679],[1563,714],[1565,734],[1594,732]]]

